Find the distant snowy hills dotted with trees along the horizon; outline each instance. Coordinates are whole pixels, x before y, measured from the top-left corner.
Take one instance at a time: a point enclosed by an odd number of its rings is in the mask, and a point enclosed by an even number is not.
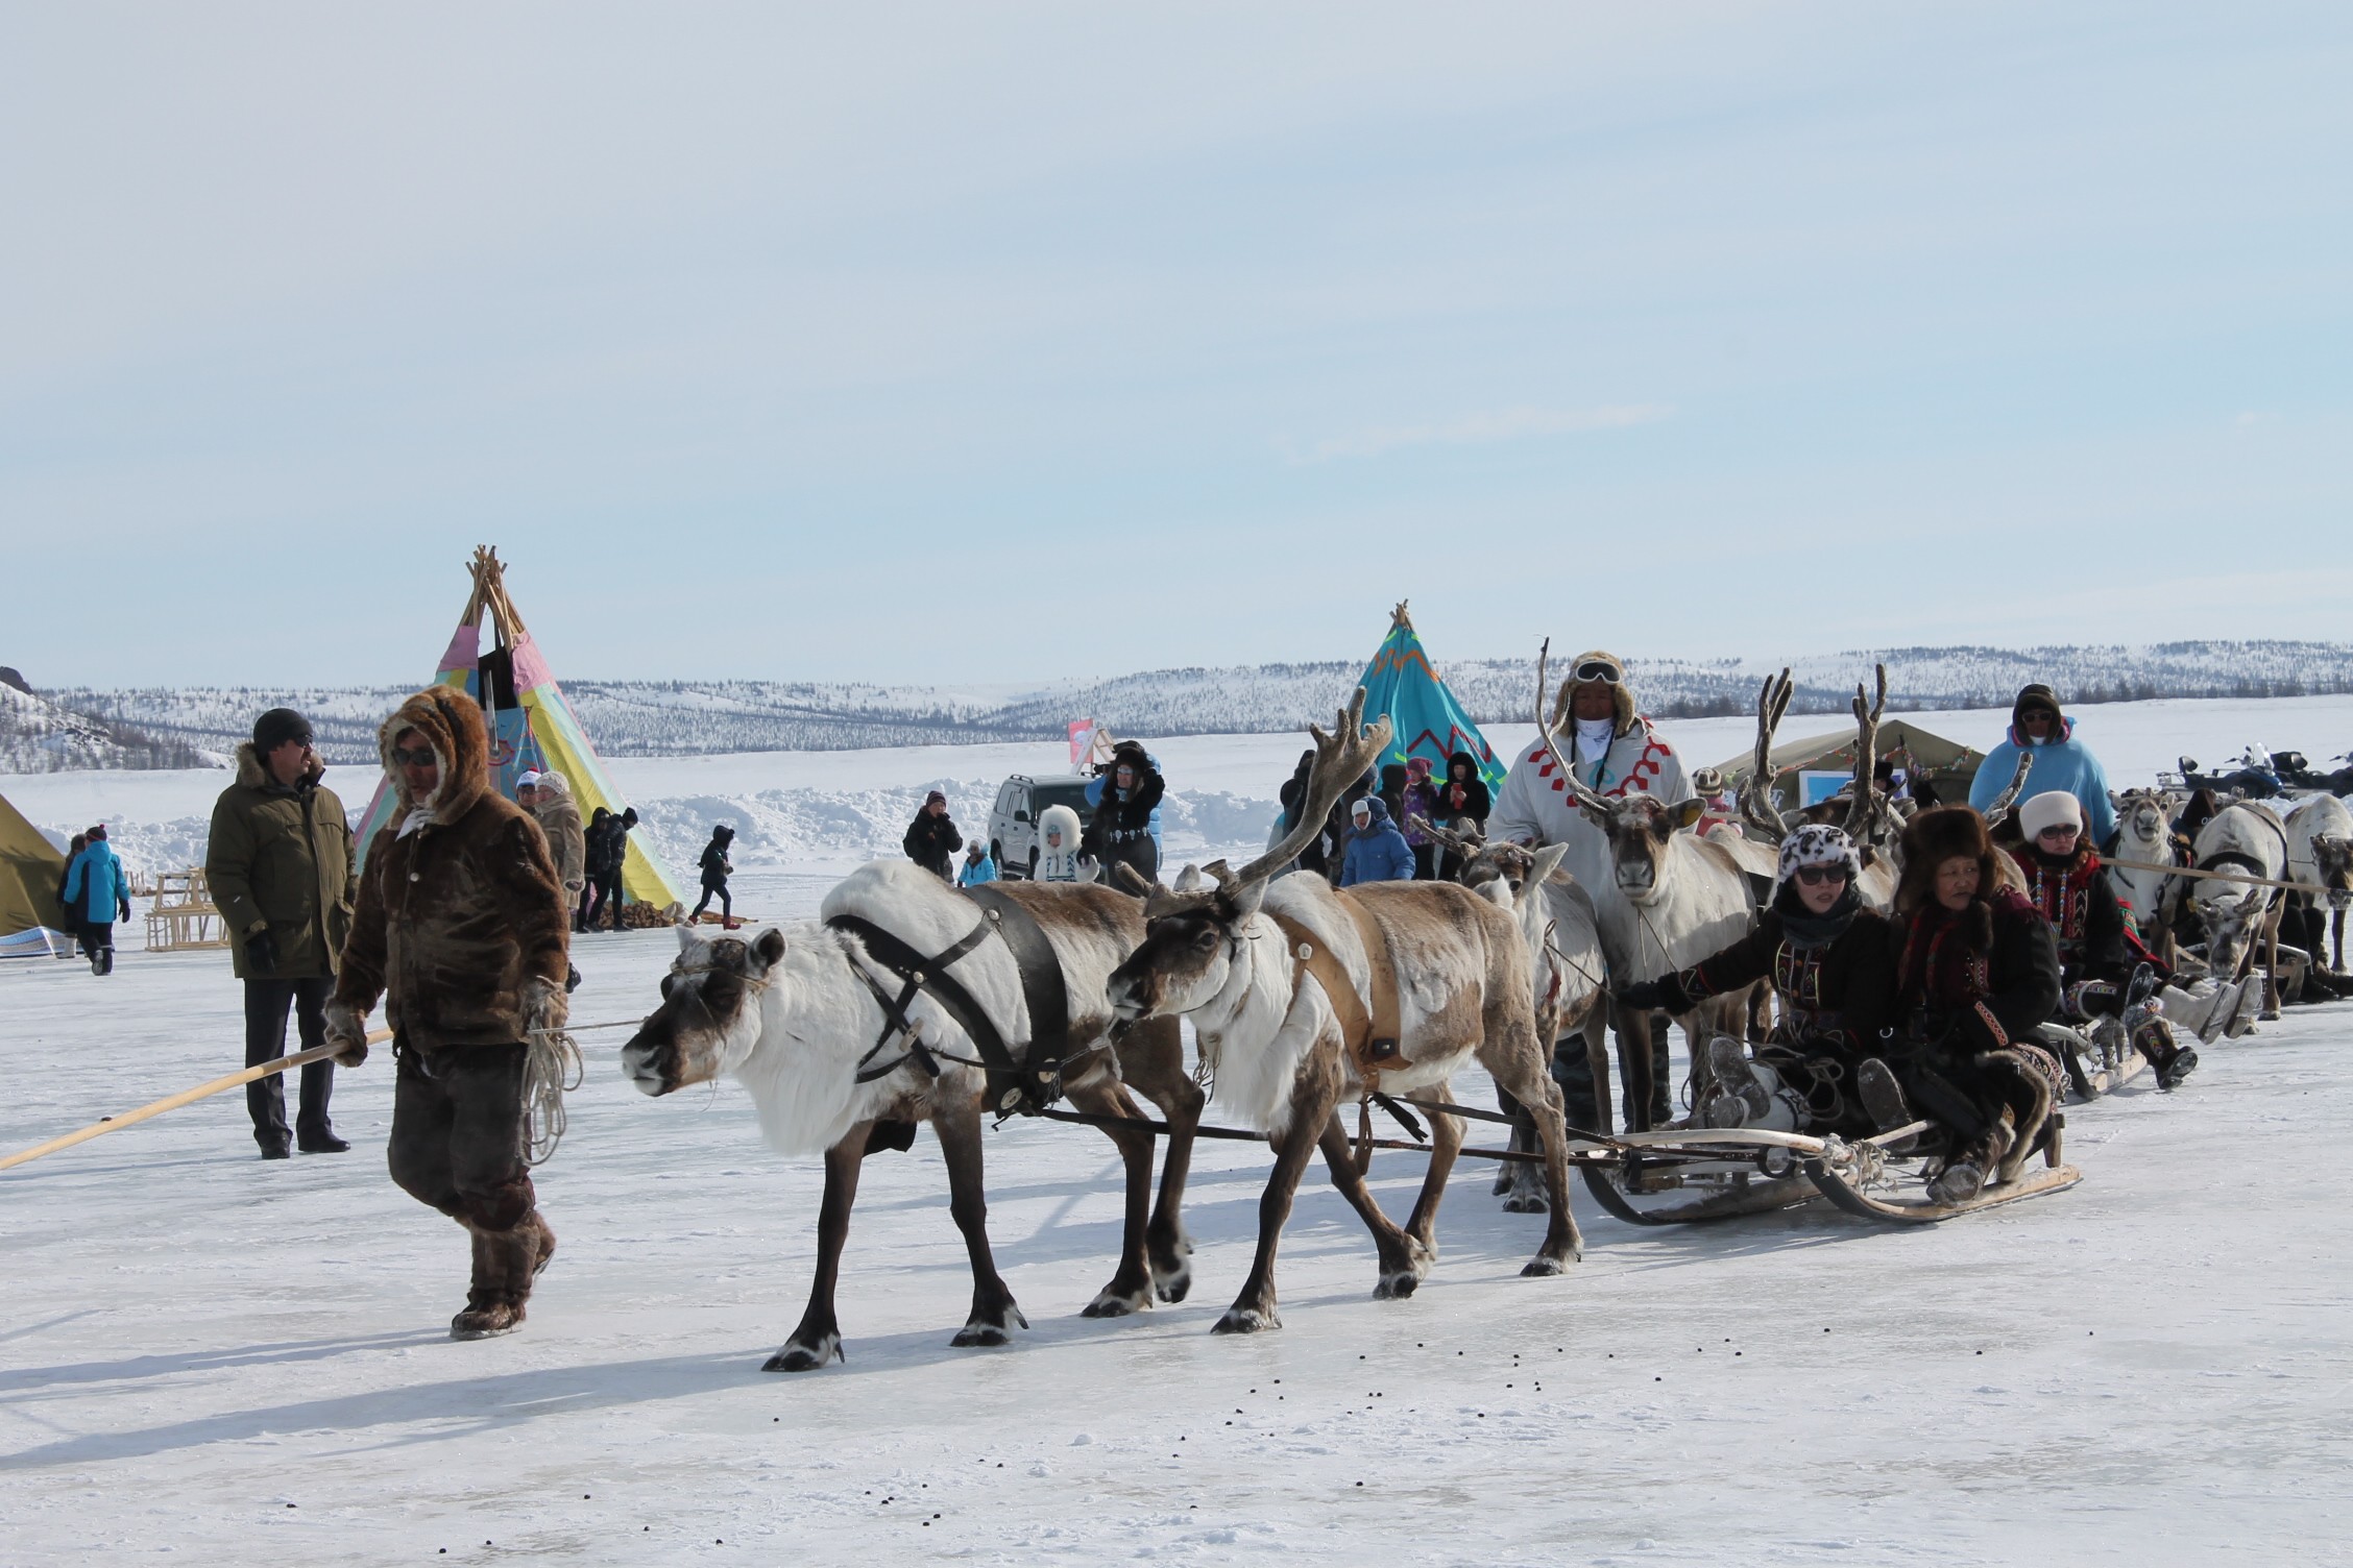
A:
[[[1857,679],[1887,663],[1889,708],[2007,708],[2019,686],[2049,682],[2068,705],[2148,698],[2273,698],[2353,691],[2346,642],[2162,642],[2151,646],[1857,649],[1758,661],[1633,658],[1642,708],[1659,717],[1739,715],[1758,682],[1788,663],[1793,712],[1845,712]],[[1059,741],[1071,719],[1134,736],[1297,731],[1329,719],[1360,661],[1144,670],[1045,686],[864,686],[812,682],[565,682],[609,757],[866,750]],[[1440,663],[1480,724],[1527,722],[1534,658]],[[409,686],[191,686],[56,691],[52,701],[136,724],[165,741],[228,752],[264,708],[301,708],[332,762],[374,759],[376,722]],[[125,764],[68,764],[125,766]]]

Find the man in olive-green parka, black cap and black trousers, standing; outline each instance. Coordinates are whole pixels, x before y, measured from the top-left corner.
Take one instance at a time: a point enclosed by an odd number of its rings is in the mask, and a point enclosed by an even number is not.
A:
[[[327,1039],[327,994],[351,931],[351,825],[344,802],[320,778],[327,764],[311,745],[311,722],[292,708],[254,719],[238,748],[238,783],[212,806],[205,886],[228,926],[231,964],[245,980],[245,1065],[287,1053],[287,1013],[304,1051]],[[287,1128],[285,1079],[245,1086],[261,1159],[341,1154],[327,1095],[334,1063],[301,1070],[301,1105]]]

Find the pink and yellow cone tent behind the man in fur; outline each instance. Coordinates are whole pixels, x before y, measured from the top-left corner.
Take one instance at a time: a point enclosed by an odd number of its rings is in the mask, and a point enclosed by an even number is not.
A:
[[[449,651],[442,654],[433,672],[435,686],[464,686],[466,696],[482,703],[482,726],[489,731],[489,776],[499,795],[515,797],[515,778],[529,769],[555,769],[572,785],[572,799],[581,809],[581,823],[595,816],[598,806],[621,813],[628,802],[605,773],[588,731],[565,701],[562,686],[548,670],[548,661],[532,642],[532,632],[515,614],[515,602],[506,597],[506,564],[492,548],[473,552],[473,592],[466,595],[466,614],[459,616]],[[487,637],[485,637],[487,632]],[[388,780],[376,783],[376,797],[367,802],[360,823],[360,858],[376,842],[376,830],[393,813]],[[680,900],[668,867],[654,858],[642,832],[628,835],[628,858],[621,863],[624,903],[649,903],[668,910]]]

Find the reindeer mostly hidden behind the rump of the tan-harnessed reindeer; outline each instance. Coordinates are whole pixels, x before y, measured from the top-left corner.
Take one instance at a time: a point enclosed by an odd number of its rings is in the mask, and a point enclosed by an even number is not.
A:
[[[1464,886],[1504,886],[1534,966],[1537,1039],[1555,1041],[1555,1053],[1560,1044],[1577,1039],[1577,1048],[1593,1065],[1593,1081],[1607,1084],[1609,1044],[1602,1025],[1609,1020],[1609,992],[1602,980],[1609,959],[1602,957],[1593,896],[1560,865],[1569,853],[1567,844],[1544,849],[1497,844],[1475,823],[1471,832],[1454,832],[1419,816],[1414,830],[1457,856],[1461,863],[1457,882]],[[1541,896],[1532,896],[1529,889],[1539,889]],[[1532,1154],[1539,1147],[1537,1119],[1501,1086],[1497,1098],[1511,1117],[1511,1147]],[[1532,1161],[1504,1161],[1494,1178],[1494,1192],[1504,1199],[1504,1213],[1544,1213],[1544,1180]]]

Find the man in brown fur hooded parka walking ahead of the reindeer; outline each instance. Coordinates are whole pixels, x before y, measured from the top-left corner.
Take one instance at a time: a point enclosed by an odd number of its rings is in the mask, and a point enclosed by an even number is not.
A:
[[[398,1060],[393,1180],[473,1237],[473,1288],[449,1338],[522,1326],[555,1255],[525,1161],[532,1041],[565,1025],[572,931],[548,839],[489,788],[482,710],[428,686],[376,731],[393,813],[360,872],[327,1039],[367,1058],[384,997]]]

